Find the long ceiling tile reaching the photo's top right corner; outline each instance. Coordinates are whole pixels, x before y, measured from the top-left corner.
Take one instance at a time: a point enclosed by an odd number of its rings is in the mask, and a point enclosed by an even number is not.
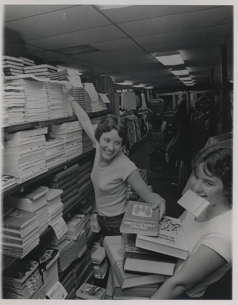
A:
[[[186,30],[216,25],[219,20],[233,16],[232,6],[203,9],[196,12],[148,18],[120,23],[119,26],[131,37]],[[201,22],[202,21],[202,22]]]

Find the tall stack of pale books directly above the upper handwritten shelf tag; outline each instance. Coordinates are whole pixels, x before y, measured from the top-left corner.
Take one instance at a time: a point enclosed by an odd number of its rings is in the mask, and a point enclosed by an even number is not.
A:
[[[49,188],[49,192],[46,193],[47,219],[49,225],[53,224],[63,215],[64,205],[60,199],[60,194],[62,193],[63,190],[55,188]]]

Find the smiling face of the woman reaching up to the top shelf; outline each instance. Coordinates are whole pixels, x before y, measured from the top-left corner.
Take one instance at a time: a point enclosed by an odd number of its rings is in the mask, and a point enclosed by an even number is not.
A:
[[[109,161],[120,151],[122,147],[122,138],[119,137],[118,131],[112,129],[104,132],[99,140],[100,158],[102,161]]]

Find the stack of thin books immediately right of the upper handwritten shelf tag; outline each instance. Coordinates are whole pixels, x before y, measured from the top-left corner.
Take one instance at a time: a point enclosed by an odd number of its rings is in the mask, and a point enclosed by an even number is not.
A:
[[[73,214],[71,217],[65,219],[68,231],[65,233],[66,238],[77,240],[81,232],[84,230],[85,215]]]

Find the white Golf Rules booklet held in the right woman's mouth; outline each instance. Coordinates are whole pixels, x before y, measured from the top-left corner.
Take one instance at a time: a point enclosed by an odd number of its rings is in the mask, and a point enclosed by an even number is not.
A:
[[[210,204],[203,197],[197,196],[190,189],[178,200],[178,204],[180,204],[185,210],[192,213],[195,217],[198,217]]]

